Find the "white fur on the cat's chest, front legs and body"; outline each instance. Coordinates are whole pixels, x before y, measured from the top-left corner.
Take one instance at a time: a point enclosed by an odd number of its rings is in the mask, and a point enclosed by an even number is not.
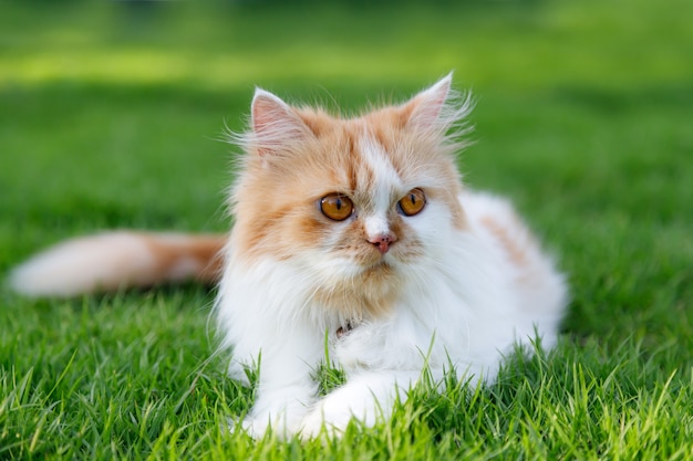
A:
[[[311,373],[323,358],[324,335],[333,336],[342,319],[317,322],[321,306],[311,295],[330,275],[311,270],[309,261],[267,259],[246,265],[230,251],[218,315],[235,346],[236,377],[242,378],[242,366],[256,364],[261,354],[258,400],[245,422],[254,436],[261,437],[268,425],[283,434],[314,434],[323,422],[343,429],[352,416],[373,423],[381,412],[389,415],[396,397],[405,397],[395,389],[416,383],[426,365],[434,378],[452,360],[461,377],[490,381],[516,344],[528,345],[537,334],[547,348],[556,343],[566,304],[562,276],[530,247],[531,277],[518,283],[505,251],[479,223],[490,214],[517,226],[509,205],[472,192],[461,201],[467,231],[453,229],[437,203],[428,203],[425,219],[412,221],[427,244],[426,258],[399,268],[406,273],[405,293],[392,316],[332,338],[331,355],[348,383],[322,400]],[[333,270],[354,270],[344,263]]]

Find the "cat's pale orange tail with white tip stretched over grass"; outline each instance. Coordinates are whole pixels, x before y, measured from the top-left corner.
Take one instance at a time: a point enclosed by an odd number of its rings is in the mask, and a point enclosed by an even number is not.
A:
[[[113,231],[68,240],[34,255],[10,274],[29,296],[74,296],[220,275],[225,235]]]

